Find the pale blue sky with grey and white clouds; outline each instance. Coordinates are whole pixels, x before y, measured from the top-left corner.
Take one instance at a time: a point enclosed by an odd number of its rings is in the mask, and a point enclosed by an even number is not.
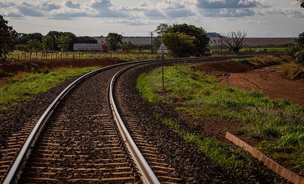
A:
[[[297,0],[0,0],[0,15],[17,32],[69,31],[76,36],[149,36],[161,23],[249,37],[298,37],[304,8]]]

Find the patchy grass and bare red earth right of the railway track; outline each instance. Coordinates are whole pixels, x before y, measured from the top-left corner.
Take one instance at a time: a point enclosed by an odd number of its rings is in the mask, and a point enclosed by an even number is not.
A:
[[[165,91],[160,69],[141,75],[138,88],[144,99],[175,109],[170,112],[174,116],[157,118],[223,167],[229,168],[233,161],[228,155],[236,154],[233,149],[220,151],[229,131],[303,176],[304,79],[283,79],[275,73],[278,66],[252,68],[234,61],[174,65],[165,68]],[[231,76],[213,77],[226,73]],[[244,162],[234,164],[248,169]]]

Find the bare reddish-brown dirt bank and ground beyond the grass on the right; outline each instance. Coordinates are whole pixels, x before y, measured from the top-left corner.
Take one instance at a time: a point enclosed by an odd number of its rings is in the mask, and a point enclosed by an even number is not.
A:
[[[270,98],[286,98],[293,103],[304,105],[304,79],[283,79],[276,73],[279,65],[252,70],[253,67],[234,61],[202,63],[198,67],[207,74],[229,73],[224,84],[242,89],[254,88]]]

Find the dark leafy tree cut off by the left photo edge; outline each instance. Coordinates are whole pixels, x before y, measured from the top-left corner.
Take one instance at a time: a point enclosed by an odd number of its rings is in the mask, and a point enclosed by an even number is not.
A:
[[[0,15],[0,61],[5,61],[5,55],[10,51],[13,36],[17,37],[17,32],[12,26],[7,26],[8,21]]]

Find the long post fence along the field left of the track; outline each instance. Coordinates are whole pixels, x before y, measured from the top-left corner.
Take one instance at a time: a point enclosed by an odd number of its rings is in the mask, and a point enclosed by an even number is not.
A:
[[[30,61],[30,60],[62,60],[62,59],[102,59],[114,58],[123,59],[127,61],[158,59],[161,58],[159,54],[148,53],[85,53],[85,52],[56,52],[56,53],[9,53],[6,54],[6,61]]]

